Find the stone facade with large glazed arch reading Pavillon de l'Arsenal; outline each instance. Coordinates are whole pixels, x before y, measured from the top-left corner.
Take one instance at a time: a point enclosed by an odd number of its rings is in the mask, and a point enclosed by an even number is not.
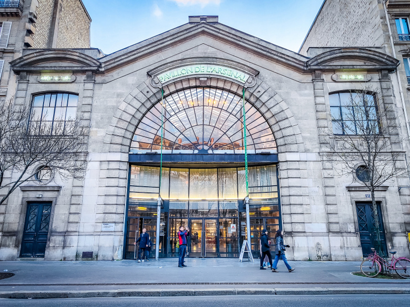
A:
[[[384,90],[375,97],[379,107],[395,106],[398,64],[380,48],[316,48],[306,57],[220,24],[217,16],[190,16],[188,24],[107,56],[96,49],[25,49],[11,62],[15,103],[76,99],[77,117],[92,127],[90,164],[84,180],[55,175],[21,186],[0,206],[0,259],[134,259],[142,227],[154,254],[158,247],[159,257],[173,257],[176,229],[184,225],[192,230],[192,257],[236,257],[247,238],[257,255],[260,231],[281,228],[290,259],[358,260],[368,245],[361,227],[372,224],[360,213],[370,208],[368,191],[338,177],[326,160],[330,96],[366,82]],[[357,72],[366,78],[338,77]],[[49,82],[50,76],[59,78]],[[404,116],[402,108],[394,112]],[[392,134],[406,133],[398,126]],[[399,147],[404,164],[408,144]],[[386,248],[401,255],[410,252],[410,197],[398,188],[409,185],[403,176],[376,192]],[[26,244],[36,232],[30,217],[43,219],[36,208],[46,208],[48,223],[38,254]]]

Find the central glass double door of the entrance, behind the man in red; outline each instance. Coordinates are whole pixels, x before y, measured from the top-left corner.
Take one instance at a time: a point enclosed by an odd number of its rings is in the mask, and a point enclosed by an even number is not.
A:
[[[190,220],[190,257],[218,256],[218,223],[216,219],[197,218]]]

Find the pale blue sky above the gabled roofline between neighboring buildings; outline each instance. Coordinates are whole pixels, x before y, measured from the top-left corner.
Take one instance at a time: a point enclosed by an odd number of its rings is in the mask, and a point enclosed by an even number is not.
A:
[[[188,23],[189,15],[219,22],[298,51],[323,0],[83,0],[91,47],[109,54]]]

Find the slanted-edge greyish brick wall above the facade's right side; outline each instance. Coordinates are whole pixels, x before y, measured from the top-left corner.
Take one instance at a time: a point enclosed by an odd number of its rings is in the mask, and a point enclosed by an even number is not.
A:
[[[326,0],[300,53],[309,47],[384,46],[382,0]]]

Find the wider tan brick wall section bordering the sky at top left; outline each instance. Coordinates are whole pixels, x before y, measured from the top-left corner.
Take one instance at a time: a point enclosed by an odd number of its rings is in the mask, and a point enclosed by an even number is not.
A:
[[[64,0],[57,48],[90,48],[90,19],[79,0]]]

